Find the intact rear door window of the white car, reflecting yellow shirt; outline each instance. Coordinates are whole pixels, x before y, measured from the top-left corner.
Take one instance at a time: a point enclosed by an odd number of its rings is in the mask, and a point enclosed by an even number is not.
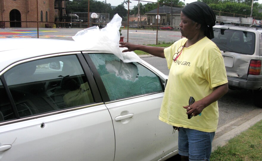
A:
[[[4,78],[19,117],[94,102],[76,55],[19,64],[4,73]]]

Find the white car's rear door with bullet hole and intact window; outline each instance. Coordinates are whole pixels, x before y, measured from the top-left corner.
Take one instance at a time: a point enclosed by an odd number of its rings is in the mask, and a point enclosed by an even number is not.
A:
[[[0,161],[113,161],[112,119],[82,54],[17,64],[1,73]]]

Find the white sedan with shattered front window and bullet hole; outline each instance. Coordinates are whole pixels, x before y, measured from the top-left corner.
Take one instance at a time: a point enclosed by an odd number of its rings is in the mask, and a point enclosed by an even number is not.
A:
[[[1,160],[166,160],[178,133],[158,120],[167,76],[104,48],[0,39]]]

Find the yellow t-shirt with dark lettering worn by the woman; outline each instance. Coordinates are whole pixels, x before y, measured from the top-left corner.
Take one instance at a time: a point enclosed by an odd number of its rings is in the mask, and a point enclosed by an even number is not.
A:
[[[207,37],[199,40],[173,61],[174,53],[184,45],[186,38],[180,39],[164,49],[170,69],[159,119],[170,125],[204,132],[216,131],[218,124],[217,101],[206,107],[201,116],[188,119],[186,109],[189,97],[196,101],[208,96],[214,87],[227,83],[227,74],[219,48]]]

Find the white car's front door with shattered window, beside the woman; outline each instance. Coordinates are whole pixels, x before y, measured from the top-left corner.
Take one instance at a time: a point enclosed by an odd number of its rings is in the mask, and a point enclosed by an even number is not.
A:
[[[163,80],[135,62],[123,63],[113,54],[88,54],[99,75],[100,90],[113,119],[115,161],[159,160],[177,150],[177,133],[158,119],[163,99]],[[92,65],[90,65],[92,66]]]

